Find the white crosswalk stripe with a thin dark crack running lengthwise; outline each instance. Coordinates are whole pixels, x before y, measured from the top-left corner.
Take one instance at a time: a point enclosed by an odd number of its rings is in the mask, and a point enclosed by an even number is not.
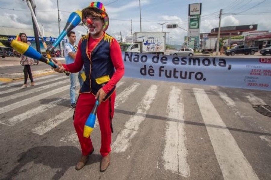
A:
[[[182,123],[184,121],[182,92],[175,86],[170,87],[167,114],[169,121],[167,122],[166,145],[163,152],[164,169],[189,177],[188,152],[185,146],[184,124]]]

